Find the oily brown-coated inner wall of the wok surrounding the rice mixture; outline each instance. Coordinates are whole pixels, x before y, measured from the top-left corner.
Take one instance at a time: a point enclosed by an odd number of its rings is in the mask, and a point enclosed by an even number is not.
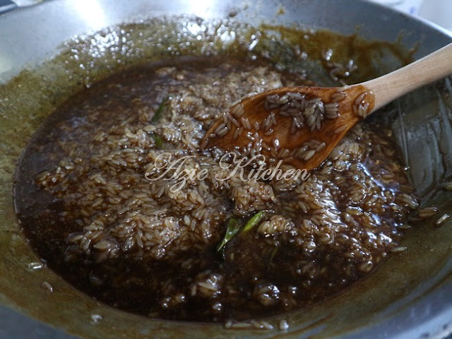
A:
[[[2,140],[0,215],[3,221],[1,225],[1,243],[3,245],[1,248],[4,256],[0,266],[2,302],[20,309],[40,321],[52,323],[54,326],[65,328],[66,331],[78,333],[86,338],[105,338],[105,336],[117,338],[119,335],[124,337],[135,335],[137,338],[147,338],[149,335],[171,338],[179,338],[181,335],[190,335],[191,338],[200,338],[200,336],[213,338],[215,335],[234,337],[242,334],[258,335],[261,338],[275,335],[273,331],[265,335],[261,331],[249,331],[249,329],[229,331],[222,329],[221,326],[206,326],[199,323],[152,321],[152,319],[143,319],[143,317],[117,311],[117,309],[95,302],[92,298],[71,288],[71,285],[45,265],[40,264],[39,269],[30,269],[31,266],[37,266],[39,258],[32,252],[23,237],[13,210],[11,191],[16,161],[20,151],[42,119],[47,117],[54,107],[61,105],[61,102],[66,100],[71,93],[81,90],[85,86],[89,87],[93,80],[102,78],[106,73],[121,69],[121,64],[117,62],[119,56],[122,63],[135,63],[141,59],[159,59],[161,56],[171,55],[173,52],[169,52],[157,44],[158,37],[162,37],[162,35],[167,34],[168,39],[165,42],[169,44],[172,51],[179,51],[182,54],[200,54],[203,47],[201,43],[196,42],[196,35],[186,35],[186,31],[184,32],[188,25],[199,24],[201,24],[199,21],[192,22],[190,18],[167,20],[165,25],[162,25],[161,20],[151,20],[144,24],[114,26],[95,35],[81,35],[65,44],[63,51],[56,59],[31,71],[24,71],[18,78],[0,88],[2,95],[0,107],[3,114],[0,126]],[[203,24],[208,27],[208,32],[213,32],[213,34],[234,30],[237,36],[236,41],[244,42],[246,48],[248,44],[256,41],[249,40],[249,37],[259,32],[259,29],[254,28],[240,30],[234,25],[227,28],[218,22],[203,21]],[[309,70],[309,78],[322,78],[327,79],[326,81],[329,79],[328,74],[319,71],[316,67],[317,64],[311,62],[312,59],[318,58],[319,54],[315,51],[319,51],[321,46],[327,45],[335,51],[338,50],[335,46],[347,47],[340,54],[335,54],[334,57],[336,61],[343,63],[347,62],[347,57],[352,57],[354,60],[363,56],[367,57],[371,60],[371,64],[367,64],[367,66],[374,69],[369,73],[369,77],[397,68],[403,64],[400,60],[405,58],[400,58],[403,53],[397,52],[400,49],[393,44],[368,43],[357,40],[356,36],[340,37],[330,32],[307,32],[306,34],[311,39],[305,40],[297,29],[286,30],[286,33],[289,34],[285,35],[283,40],[279,40],[281,43],[278,44],[278,47],[283,47],[282,49],[268,48],[275,46],[272,39],[273,35],[278,35],[278,29],[266,27],[266,30],[260,30],[266,32],[266,36],[258,39],[251,54],[265,54],[270,57],[270,60],[275,60],[273,58],[275,56],[282,60],[281,56],[287,54],[292,56],[287,58],[289,61],[291,58],[294,59],[293,56],[299,55],[301,58],[296,64],[302,69]],[[179,32],[185,35],[182,40],[176,37]],[[322,35],[326,40],[324,43],[319,43],[316,36]],[[186,46],[183,40],[191,41],[189,49],[183,49]],[[290,47],[294,44],[298,44],[300,48]],[[106,48],[107,46],[112,48]],[[315,49],[315,46],[319,47]],[[367,46],[371,48],[367,49]],[[233,47],[237,47],[237,44],[234,44]],[[219,49],[215,48],[210,47],[207,50],[214,54],[218,53]],[[268,54],[270,49],[273,52]],[[284,52],[278,53],[278,50]],[[303,59],[305,51],[308,54],[307,59]],[[104,59],[97,58],[97,55],[100,54]],[[381,57],[382,55],[384,57]],[[384,62],[381,62],[382,59]],[[358,61],[357,64],[363,65]],[[80,65],[83,65],[83,68]],[[375,70],[379,71],[375,73]],[[366,80],[366,78],[357,78],[353,81],[362,80]],[[398,144],[403,145],[409,155],[407,163],[415,164],[415,167],[411,167],[410,173],[415,170],[419,174],[417,184],[424,183],[424,171],[427,170],[426,184],[429,186],[423,186],[423,189],[427,189],[427,191],[432,190],[433,183],[444,178],[439,175],[442,173],[439,169],[439,164],[442,163],[441,153],[432,149],[426,150],[423,138],[429,136],[436,140],[437,136],[439,145],[441,145],[441,135],[443,135],[441,131],[446,128],[444,121],[448,121],[447,107],[451,107],[450,97],[449,81],[441,82],[432,88],[422,90],[422,93],[409,96],[398,107],[402,119],[398,119],[396,125],[393,125]],[[441,112],[441,121],[438,120],[437,110]],[[429,121],[432,121],[432,124],[428,126],[425,124],[427,117]],[[437,126],[441,128],[437,130]],[[432,129],[436,131],[433,136]],[[408,146],[408,141],[410,145],[414,143],[415,146]],[[422,150],[421,157],[420,150]],[[428,152],[425,153],[426,151]],[[435,154],[439,160],[432,165],[424,162],[423,159],[429,154]],[[424,165],[429,167],[424,168]],[[424,204],[432,203],[447,211],[451,208],[448,201],[447,197],[441,194],[432,201],[424,201]],[[431,232],[424,232],[424,227],[410,230],[409,236],[404,240],[409,251],[405,251],[399,256],[392,256],[381,264],[372,275],[352,289],[327,302],[309,308],[308,312],[302,310],[285,314],[285,319],[290,323],[290,331],[287,336],[298,338],[299,335],[320,330],[321,335],[355,331],[360,326],[367,326],[376,321],[376,312],[379,314],[379,320],[391,316],[385,311],[389,304],[393,305],[391,309],[395,311],[410,307],[413,302],[417,302],[417,295],[414,295],[413,299],[411,291],[419,288],[420,292],[427,293],[441,289],[444,283],[450,283],[450,276],[447,277],[451,267],[448,261],[451,232],[448,227],[436,228],[430,224],[432,223],[422,222],[422,225]],[[41,287],[44,281],[52,284],[53,292]],[[443,300],[444,297],[440,300]],[[91,318],[93,314],[101,315],[102,320],[93,323]],[[68,319],[71,319],[70,323]],[[278,327],[278,317],[269,321]]]

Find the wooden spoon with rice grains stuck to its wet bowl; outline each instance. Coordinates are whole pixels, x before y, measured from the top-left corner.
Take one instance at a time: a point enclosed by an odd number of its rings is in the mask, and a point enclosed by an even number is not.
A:
[[[397,97],[450,74],[452,44],[357,85],[267,90],[232,105],[210,127],[201,148],[263,154],[300,169],[313,169],[359,120]]]

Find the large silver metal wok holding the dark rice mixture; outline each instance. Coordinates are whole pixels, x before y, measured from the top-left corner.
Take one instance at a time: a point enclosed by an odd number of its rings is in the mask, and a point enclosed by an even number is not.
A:
[[[1,4],[1,2],[0,2]],[[3,1],[0,15],[0,335],[2,338],[444,338],[452,333],[452,222],[417,223],[408,251],[326,302],[284,314],[280,331],[226,330],[221,324],[145,319],[100,304],[74,289],[33,253],[13,208],[13,174],[20,152],[52,107],[94,79],[60,81],[61,66],[44,61],[64,42],[122,23],[162,16],[178,20],[326,28],[369,40],[398,41],[414,59],[451,42],[448,32],[389,8],[357,0],[298,1],[45,1],[21,8]],[[189,15],[189,17],[186,17]],[[196,18],[195,18],[196,16]],[[104,34],[102,33],[102,34]],[[104,35],[101,37],[105,37]],[[111,40],[109,47],[120,44]],[[89,51],[88,51],[89,53]],[[66,55],[67,57],[67,55]],[[64,58],[63,58],[64,59]],[[61,60],[63,60],[61,59]],[[381,72],[396,64],[381,60]],[[47,66],[46,66],[47,65]],[[23,71],[37,69],[38,71]],[[105,72],[107,72],[106,69]],[[14,79],[15,76],[20,76]],[[13,80],[11,80],[13,79]],[[81,80],[82,79],[82,80]],[[393,104],[393,133],[422,206],[452,215],[452,85],[446,78]],[[43,282],[52,286],[43,288]],[[45,285],[44,285],[45,286]],[[282,316],[269,319],[278,323]]]

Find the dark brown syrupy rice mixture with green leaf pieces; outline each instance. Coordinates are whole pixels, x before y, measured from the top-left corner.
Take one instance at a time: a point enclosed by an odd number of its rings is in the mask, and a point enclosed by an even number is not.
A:
[[[340,292],[403,250],[417,206],[386,123],[357,125],[303,178],[250,179],[254,163],[240,177],[220,150],[198,151],[234,101],[296,79],[258,61],[190,57],[78,93],[20,160],[16,209],[31,245],[88,295],[163,319],[250,319]],[[163,153],[192,156],[184,174],[206,175],[172,189]]]

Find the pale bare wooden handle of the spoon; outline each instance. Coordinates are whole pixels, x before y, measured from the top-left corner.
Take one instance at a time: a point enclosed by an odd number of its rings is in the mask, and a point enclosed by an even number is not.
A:
[[[374,112],[396,98],[416,88],[452,74],[452,44],[423,57],[412,64],[361,85],[375,95]]]

